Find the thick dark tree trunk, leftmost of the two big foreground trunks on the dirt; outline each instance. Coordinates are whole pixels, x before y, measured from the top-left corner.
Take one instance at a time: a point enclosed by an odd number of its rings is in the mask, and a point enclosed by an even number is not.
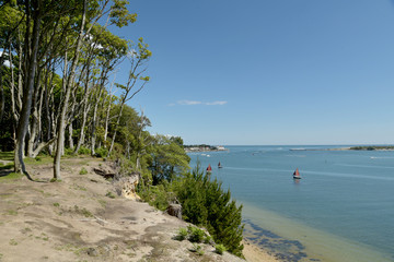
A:
[[[15,172],[26,172],[26,168],[23,162],[23,147],[24,147],[24,139],[27,132],[28,127],[28,118],[32,108],[32,96],[34,91],[34,79],[37,69],[37,53],[38,53],[38,45],[39,45],[39,23],[40,23],[40,5],[42,0],[34,2],[36,7],[34,7],[33,19],[33,37],[32,45],[30,45],[28,33],[26,33],[25,44],[26,47],[31,46],[31,56],[26,52],[26,82],[23,91],[23,106],[20,115],[18,128],[16,128],[16,141],[15,141],[15,153],[14,153],[14,170]],[[30,1],[26,1],[26,10],[30,10]],[[28,12],[28,11],[27,11]],[[30,19],[26,20],[27,29],[30,28]]]

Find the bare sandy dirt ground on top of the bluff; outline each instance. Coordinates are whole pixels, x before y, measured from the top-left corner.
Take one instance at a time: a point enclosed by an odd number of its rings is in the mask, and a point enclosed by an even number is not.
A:
[[[243,261],[210,245],[199,245],[204,254],[190,251],[192,242],[174,239],[185,222],[118,195],[94,167],[111,168],[97,158],[69,158],[60,182],[49,182],[51,164],[28,166],[36,181],[0,180],[1,262]],[[80,175],[83,168],[88,174]],[[269,261],[251,249],[250,258],[257,255],[251,261]]]

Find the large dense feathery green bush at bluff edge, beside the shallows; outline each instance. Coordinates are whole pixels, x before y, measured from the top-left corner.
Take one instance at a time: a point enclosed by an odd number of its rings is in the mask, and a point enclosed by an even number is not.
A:
[[[216,242],[235,255],[242,255],[242,205],[236,206],[221,182],[204,175],[199,165],[176,182],[175,192],[186,221],[207,227]]]

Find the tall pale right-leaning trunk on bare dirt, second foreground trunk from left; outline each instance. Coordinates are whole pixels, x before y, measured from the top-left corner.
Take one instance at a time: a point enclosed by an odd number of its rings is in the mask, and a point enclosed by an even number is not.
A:
[[[65,142],[66,112],[68,109],[68,103],[70,99],[71,88],[73,86],[77,63],[78,63],[78,59],[79,59],[79,55],[80,55],[80,49],[82,46],[83,29],[84,29],[84,25],[85,25],[85,15],[86,15],[86,0],[83,1],[81,28],[80,28],[80,33],[79,33],[78,40],[77,40],[77,47],[76,47],[76,52],[74,52],[74,57],[73,57],[71,69],[70,69],[70,74],[67,78],[65,100],[63,100],[59,120],[58,120],[57,148],[56,148],[56,154],[55,154],[55,159],[54,159],[54,178],[55,179],[61,179],[60,157],[61,157],[61,153],[62,153],[62,145]]]

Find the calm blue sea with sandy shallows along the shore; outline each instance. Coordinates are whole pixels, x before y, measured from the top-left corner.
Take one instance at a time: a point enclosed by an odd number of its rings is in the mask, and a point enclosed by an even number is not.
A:
[[[333,147],[345,146],[228,146],[189,156],[192,167],[210,164],[243,204],[245,237],[278,258],[394,261],[394,152]]]

